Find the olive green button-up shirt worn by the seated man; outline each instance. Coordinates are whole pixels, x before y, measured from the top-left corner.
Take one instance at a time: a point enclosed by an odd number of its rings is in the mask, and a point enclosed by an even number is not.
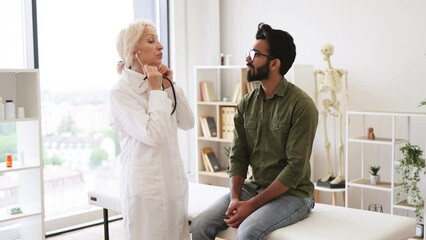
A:
[[[304,91],[283,78],[266,99],[259,87],[240,101],[234,123],[229,177],[246,178],[250,165],[253,175],[245,188],[252,194],[277,179],[289,187],[288,194],[312,196],[310,156],[318,110]]]

